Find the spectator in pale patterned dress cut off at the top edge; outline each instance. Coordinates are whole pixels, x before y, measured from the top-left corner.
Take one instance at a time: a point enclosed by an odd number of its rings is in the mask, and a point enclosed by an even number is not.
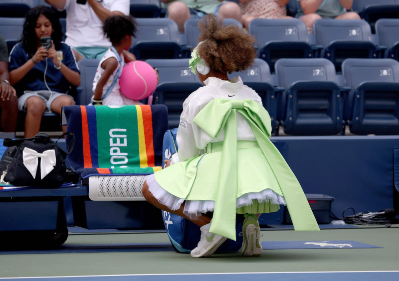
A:
[[[286,5],[289,0],[239,0],[242,11],[242,25],[248,29],[255,18],[290,18]]]

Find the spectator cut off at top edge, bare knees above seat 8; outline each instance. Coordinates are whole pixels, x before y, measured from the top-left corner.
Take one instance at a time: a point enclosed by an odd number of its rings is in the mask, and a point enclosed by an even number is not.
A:
[[[348,12],[353,0],[298,0],[296,17],[305,22],[308,33],[313,33],[313,23],[320,18],[360,19],[356,12]]]

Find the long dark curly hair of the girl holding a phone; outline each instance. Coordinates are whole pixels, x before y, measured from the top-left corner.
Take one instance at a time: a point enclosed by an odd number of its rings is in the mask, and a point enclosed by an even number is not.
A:
[[[60,43],[62,41],[62,28],[55,11],[49,6],[35,6],[31,8],[26,14],[25,21],[23,22],[22,36],[19,40],[20,42],[22,42],[23,48],[30,57],[33,56],[36,52],[37,37],[34,29],[36,26],[37,18],[41,14],[47,17],[48,20],[51,22],[51,26],[54,30],[51,33],[51,39],[53,40],[55,48],[57,50],[59,50]]]

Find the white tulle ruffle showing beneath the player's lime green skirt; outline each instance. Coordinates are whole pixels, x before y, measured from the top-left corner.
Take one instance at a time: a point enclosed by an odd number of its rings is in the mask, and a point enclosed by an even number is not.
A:
[[[162,188],[155,179],[154,174],[147,176],[146,181],[149,187],[148,190],[161,204],[167,206],[169,209],[178,210],[185,201],[185,198],[176,197]],[[285,200],[283,196],[278,195],[271,189],[264,189],[260,192],[246,193],[238,197],[236,207],[241,208],[243,206],[249,206],[253,203],[252,200],[258,200],[259,203],[270,202],[274,205],[285,206]],[[198,216],[200,216],[201,213],[212,212],[214,210],[214,206],[215,202],[211,200],[186,200],[183,212],[190,219],[195,220]]]

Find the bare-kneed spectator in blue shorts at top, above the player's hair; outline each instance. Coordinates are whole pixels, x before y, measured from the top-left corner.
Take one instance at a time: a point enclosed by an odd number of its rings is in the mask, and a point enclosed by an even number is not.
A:
[[[234,18],[241,21],[241,10],[234,1],[223,0],[161,0],[167,8],[168,18],[173,19],[179,26],[180,33],[184,33],[184,23],[189,18],[202,18],[205,14],[213,13],[219,18]]]

